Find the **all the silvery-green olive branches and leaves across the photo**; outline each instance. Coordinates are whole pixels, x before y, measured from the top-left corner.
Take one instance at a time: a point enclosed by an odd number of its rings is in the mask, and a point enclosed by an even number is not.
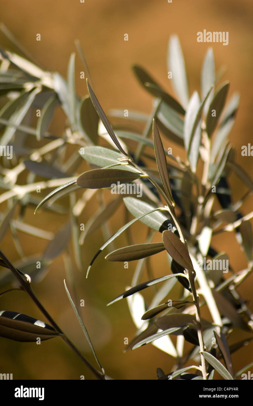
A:
[[[182,50],[178,38],[173,36],[169,41],[167,62],[177,99],[162,89],[145,69],[134,65],[133,71],[141,86],[154,96],[153,110],[149,117],[138,111],[125,114],[123,110],[111,110],[112,126],[93,92],[79,43],[77,48],[88,75],[89,95],[82,99],[75,90],[75,54],[69,59],[65,80],[58,73],[41,69],[29,58],[0,51],[0,92],[5,103],[0,110],[0,144],[2,147],[13,146],[13,159],[2,158],[0,186],[3,193],[0,202],[3,204],[8,200],[8,208],[1,213],[0,239],[10,227],[13,244],[23,259],[21,266],[14,266],[0,251],[0,264],[7,268],[0,272],[1,295],[15,289],[24,290],[51,324],[26,315],[17,317],[13,311],[1,312],[0,336],[16,341],[35,341],[38,335],[41,339],[60,335],[96,378],[106,379],[78,312],[73,277],[69,283],[74,299],[64,281],[67,296],[101,372],[58,327],[34,294],[32,285],[43,279],[49,264],[58,255],[66,252],[69,256],[66,250],[70,240],[76,266],[83,271],[82,250],[87,239],[99,227],[108,232],[110,217],[120,205],[124,205],[133,219],[116,230],[94,252],[87,276],[104,248],[110,247],[121,233],[128,233],[135,222],[145,224],[148,229],[146,240],[143,239],[141,244],[132,241],[105,256],[108,261],[138,261],[131,287],[108,303],[110,305],[123,298],[128,300],[138,330],[126,350],[152,343],[166,353],[165,356],[175,358],[173,371],[164,372],[157,368],[158,379],[213,379],[214,369],[224,379],[236,379],[238,374],[233,370],[231,354],[253,337],[253,315],[238,293],[238,287],[251,274],[253,266],[253,238],[249,222],[253,213],[242,216],[239,212],[244,199],[253,190],[253,182],[236,164],[234,149],[227,140],[235,121],[239,97],[234,94],[227,103],[229,82],[218,86],[221,77],[216,73],[211,48],[205,55],[201,70],[201,94],[195,91],[189,97]],[[61,137],[48,130],[57,109],[61,109],[66,117]],[[41,114],[36,116],[37,125],[34,127],[32,122],[38,111]],[[142,133],[133,132],[137,123],[145,124]],[[153,140],[149,138],[151,133]],[[37,148],[27,146],[31,137],[37,140]],[[177,144],[182,151],[185,149],[186,160],[171,151],[168,153],[164,149],[163,138],[171,145]],[[65,160],[69,145],[74,146],[74,152]],[[83,159],[90,168],[80,173]],[[232,203],[229,187],[229,176],[233,172],[248,188],[242,198],[236,197],[236,203]],[[19,183],[21,173],[26,176],[25,184]],[[37,177],[44,180],[37,181]],[[119,194],[106,204],[102,198],[99,210],[86,222],[84,229],[80,228],[79,220],[84,217],[86,203],[100,193],[100,189],[106,195],[107,189],[117,182],[121,185],[141,185],[143,197],[133,197],[131,193],[124,197]],[[40,199],[36,193],[38,187],[40,190],[53,190],[47,191]],[[86,190],[78,198],[82,188]],[[30,205],[35,212],[41,208],[40,215],[50,209],[65,216],[64,207],[56,201],[67,195],[70,197],[69,221],[54,236],[15,219],[17,211],[24,214]],[[221,206],[218,211],[213,209],[214,202]],[[16,233],[19,229],[49,240],[36,261],[31,258],[24,261],[25,255]],[[216,252],[212,247],[213,236],[225,232],[236,233],[247,259],[247,268],[235,271],[229,265],[225,270],[201,269],[204,259],[220,264],[219,261],[222,263],[229,258],[229,253]],[[160,242],[152,242],[155,233],[160,233]],[[145,265],[150,268],[150,257],[162,251],[164,255],[167,251],[168,259],[165,275],[139,283]],[[39,268],[36,267],[37,261],[41,265]],[[72,272],[72,267],[69,271]],[[16,280],[18,284],[15,284]],[[161,287],[158,286],[147,305],[139,292],[160,283]],[[177,298],[172,293],[175,283],[182,286]],[[164,302],[165,298],[168,300]],[[210,320],[201,317],[205,308],[210,312]],[[247,338],[232,343],[231,337],[238,329],[243,330]],[[171,335],[177,336],[177,346],[171,341]],[[190,350],[185,349],[185,341],[191,344]],[[187,366],[188,362],[192,365]],[[193,372],[186,374],[189,369]]]

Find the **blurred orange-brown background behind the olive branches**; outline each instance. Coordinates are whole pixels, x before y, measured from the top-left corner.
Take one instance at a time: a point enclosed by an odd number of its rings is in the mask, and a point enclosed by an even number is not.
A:
[[[200,70],[208,46],[214,49],[216,69],[226,66],[223,79],[229,80],[229,97],[234,91],[241,95],[240,108],[236,123],[230,134],[231,143],[237,151],[237,162],[252,174],[252,157],[241,156],[241,146],[252,140],[253,127],[253,3],[250,0],[187,0],[168,3],[167,0],[25,0],[17,2],[0,0],[1,21],[13,32],[19,42],[39,60],[47,70],[58,71],[66,77],[67,64],[71,52],[76,52],[74,40],[79,39],[84,50],[94,91],[105,111],[111,108],[139,110],[147,114],[152,108],[152,97],[138,84],[131,70],[134,63],[141,65],[169,93],[173,89],[167,78],[167,46],[169,37],[177,34],[184,53],[190,93],[200,91]],[[229,45],[222,43],[197,43],[197,32],[228,31]],[[41,34],[41,41],[36,35]],[[124,34],[128,41],[124,41]],[[16,52],[13,45],[0,33],[0,45]],[[80,79],[84,70],[78,55],[76,56],[76,91],[80,97],[86,95],[85,80]],[[52,132],[61,134],[64,127],[63,117],[59,116],[52,124]],[[59,130],[60,129],[60,130]],[[170,147],[164,139],[164,147]],[[182,155],[182,151],[173,145],[173,154]],[[233,195],[237,199],[246,191],[246,187],[236,176],[230,177]],[[64,204],[64,201],[63,201]],[[84,224],[94,213],[96,201],[91,202],[82,212],[80,219]],[[66,200],[67,205],[67,200]],[[2,205],[1,212],[5,210]],[[218,208],[218,206],[217,206]],[[252,211],[252,198],[248,198],[242,213]],[[123,210],[112,217],[111,229],[116,231],[123,225]],[[28,224],[56,232],[67,216],[43,209],[33,216],[33,209],[26,211],[24,219]],[[19,238],[26,256],[41,253],[46,246],[45,240],[29,236],[21,231]],[[146,228],[135,225],[132,228],[135,243],[143,242]],[[159,241],[160,236],[156,241]],[[132,279],[135,263],[129,263],[124,269],[123,263],[109,263],[103,255],[94,263],[88,279],[85,279],[86,267],[93,253],[103,244],[101,231],[87,239],[82,248],[84,270],[74,269],[78,294],[84,299],[82,317],[97,352],[99,361],[106,374],[114,379],[156,379],[156,368],[170,371],[174,360],[171,356],[150,344],[138,350],[123,353],[124,338],[134,337],[136,328],[128,311],[126,300],[110,307],[106,304],[124,292]],[[116,240],[116,247],[126,245],[125,236]],[[227,251],[234,270],[246,267],[243,253],[233,233],[214,238],[214,247]],[[13,248],[10,233],[6,234],[1,249],[15,262],[19,256]],[[155,266],[155,277],[167,274],[166,255],[160,253],[151,258]],[[43,281],[34,286],[35,293],[51,313],[63,331],[95,365],[93,356],[86,344],[82,330],[74,316],[67,299],[63,279],[65,270],[63,256],[56,258]],[[147,275],[143,281],[147,280]],[[239,292],[244,299],[252,297],[252,276],[242,284]],[[149,288],[150,289],[150,288]],[[148,301],[152,291],[145,291]],[[171,294],[177,299],[179,287]],[[173,296],[175,295],[175,296]],[[249,305],[253,311],[252,304]],[[12,292],[0,298],[0,310],[12,310],[41,319],[41,314],[22,292]],[[43,321],[45,321],[42,318]],[[238,332],[238,340],[240,332]],[[175,340],[173,338],[173,342]],[[188,348],[188,344],[186,344]],[[232,356],[234,369],[252,361],[253,345]],[[60,338],[36,343],[16,343],[0,338],[0,372],[13,373],[13,379],[94,379],[93,375],[71,352]],[[217,378],[217,377],[216,377]]]

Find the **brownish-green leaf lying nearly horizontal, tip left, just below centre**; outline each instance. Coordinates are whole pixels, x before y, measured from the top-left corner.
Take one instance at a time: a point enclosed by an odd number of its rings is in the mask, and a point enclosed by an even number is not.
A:
[[[106,255],[105,259],[108,261],[135,261],[160,253],[165,250],[162,242],[155,242],[151,244],[136,244],[128,247],[119,248]]]

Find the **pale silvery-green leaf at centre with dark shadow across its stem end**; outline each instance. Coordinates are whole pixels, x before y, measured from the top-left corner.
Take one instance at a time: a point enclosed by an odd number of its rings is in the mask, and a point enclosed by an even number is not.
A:
[[[124,197],[123,201],[134,217],[139,217],[150,212],[150,210],[155,209],[155,207],[151,206],[149,203],[143,202],[134,197]],[[142,217],[140,221],[151,229],[160,232],[167,230],[168,225],[171,224],[171,221],[162,212],[147,214],[147,216]]]

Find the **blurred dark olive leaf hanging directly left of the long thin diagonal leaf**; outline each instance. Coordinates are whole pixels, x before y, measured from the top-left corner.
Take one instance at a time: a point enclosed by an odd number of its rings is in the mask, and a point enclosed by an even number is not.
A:
[[[80,125],[91,141],[96,144],[98,139],[99,117],[90,97],[84,97],[79,109]],[[103,165],[106,166],[106,165]]]

